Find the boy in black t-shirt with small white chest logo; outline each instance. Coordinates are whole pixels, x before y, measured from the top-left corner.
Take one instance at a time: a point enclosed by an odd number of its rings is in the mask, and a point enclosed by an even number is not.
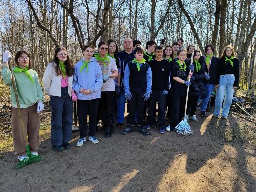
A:
[[[148,107],[148,123],[145,125],[145,129],[150,129],[155,123],[155,108],[156,102],[158,102],[159,133],[164,133],[165,103],[169,88],[170,67],[169,62],[162,58],[163,48],[161,46],[155,48],[155,55],[156,58],[148,62],[152,71],[152,95]]]

